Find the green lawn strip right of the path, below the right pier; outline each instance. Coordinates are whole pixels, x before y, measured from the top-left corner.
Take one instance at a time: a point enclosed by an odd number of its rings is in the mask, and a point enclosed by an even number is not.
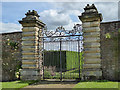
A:
[[[120,84],[120,83],[119,83]],[[118,82],[112,81],[91,81],[91,82],[79,82],[74,86],[75,88],[118,88]]]

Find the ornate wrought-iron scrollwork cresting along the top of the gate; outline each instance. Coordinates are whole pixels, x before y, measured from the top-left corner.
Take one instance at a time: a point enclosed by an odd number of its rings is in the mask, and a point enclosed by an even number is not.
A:
[[[43,30],[42,32],[44,40],[45,41],[59,41],[60,39],[62,40],[73,40],[77,39],[80,37],[82,40],[82,26],[79,26],[79,29],[77,29],[75,26],[72,30],[65,30],[63,26],[57,27],[55,31],[47,31]],[[74,37],[73,37],[74,36]],[[49,39],[48,39],[49,37]],[[57,37],[57,38],[56,38]]]

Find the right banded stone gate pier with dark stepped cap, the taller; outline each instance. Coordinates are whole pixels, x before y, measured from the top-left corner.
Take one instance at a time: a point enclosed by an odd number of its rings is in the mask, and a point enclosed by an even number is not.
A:
[[[84,37],[84,65],[83,77],[85,79],[100,79],[101,54],[100,54],[100,22],[102,15],[98,13],[94,4],[87,4],[79,19],[82,21]]]

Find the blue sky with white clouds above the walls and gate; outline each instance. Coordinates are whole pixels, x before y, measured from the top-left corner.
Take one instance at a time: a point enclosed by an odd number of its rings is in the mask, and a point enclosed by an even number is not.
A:
[[[14,1],[14,0],[13,0]],[[31,0],[30,0],[31,1]],[[55,30],[58,26],[63,26],[66,30],[71,30],[74,24],[81,24],[78,16],[84,12],[87,4],[95,4],[99,13],[102,13],[103,21],[118,21],[118,2],[8,2],[0,3],[2,12],[0,13],[2,31],[21,31],[22,26],[19,20],[25,17],[28,10],[36,10],[46,25],[48,30]],[[0,10],[0,11],[1,11]]]

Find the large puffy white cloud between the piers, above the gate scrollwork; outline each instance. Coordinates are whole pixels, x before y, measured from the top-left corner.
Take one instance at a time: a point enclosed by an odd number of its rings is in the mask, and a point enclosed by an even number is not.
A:
[[[40,19],[47,24],[49,30],[55,30],[58,26],[65,26],[66,29],[70,29],[74,25],[69,14],[59,13],[57,10],[45,10],[40,13],[40,16]]]

